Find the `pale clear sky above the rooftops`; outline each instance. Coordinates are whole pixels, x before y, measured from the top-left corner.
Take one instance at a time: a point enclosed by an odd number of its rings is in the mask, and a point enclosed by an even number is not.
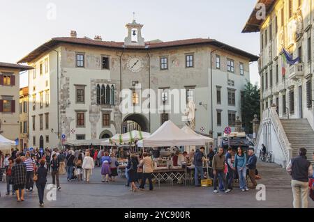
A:
[[[0,0],[0,61],[16,63],[54,37],[69,36],[123,42],[125,25],[144,24],[145,40],[214,38],[251,54],[260,52],[259,33],[241,33],[256,0]],[[257,62],[251,82],[259,84]],[[21,75],[27,86],[27,74]]]

